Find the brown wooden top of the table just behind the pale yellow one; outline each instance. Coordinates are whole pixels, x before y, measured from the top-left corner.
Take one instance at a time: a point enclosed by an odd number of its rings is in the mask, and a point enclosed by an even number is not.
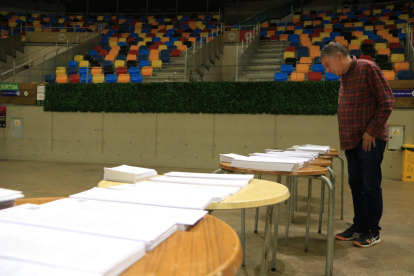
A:
[[[309,165],[293,172],[267,171],[267,170],[252,170],[232,167],[231,163],[220,162],[220,167],[233,172],[241,172],[247,174],[271,174],[271,175],[287,175],[287,176],[307,176],[307,175],[323,175],[329,171],[327,168]]]

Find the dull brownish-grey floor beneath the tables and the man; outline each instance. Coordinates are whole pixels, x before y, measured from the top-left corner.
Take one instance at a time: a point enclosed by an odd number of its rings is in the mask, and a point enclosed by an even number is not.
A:
[[[102,164],[75,164],[0,160],[0,187],[23,191],[29,197],[68,196],[96,187],[103,176]],[[108,164],[107,166],[113,166]],[[155,168],[168,171],[197,171],[179,168]],[[386,176],[384,176],[386,177]],[[275,180],[264,176],[263,179]],[[285,179],[282,179],[284,182]],[[339,181],[337,181],[339,182]],[[414,183],[383,181],[384,213],[381,220],[381,244],[372,248],[354,247],[352,242],[335,241],[334,275],[414,275]],[[344,220],[340,214],[340,186],[337,183],[335,232],[352,222],[350,190],[345,185]],[[285,205],[280,208],[277,271],[268,275],[324,275],[327,214],[322,234],[317,232],[320,184],[314,181],[309,252],[304,252],[307,180],[299,181],[298,211],[289,231],[289,246],[283,246]],[[327,200],[325,200],[327,202]],[[326,206],[327,208],[327,206]],[[263,247],[265,208],[260,209],[259,231],[253,233],[254,210],[246,211],[246,266],[237,275],[259,275]],[[240,211],[215,211],[213,216],[228,223],[240,234]]]

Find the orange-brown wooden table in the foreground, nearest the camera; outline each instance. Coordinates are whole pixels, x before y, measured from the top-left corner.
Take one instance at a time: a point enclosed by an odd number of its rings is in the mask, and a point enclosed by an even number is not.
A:
[[[53,198],[17,199],[42,204]],[[223,221],[205,215],[187,231],[176,231],[121,275],[235,275],[242,263],[238,235]]]

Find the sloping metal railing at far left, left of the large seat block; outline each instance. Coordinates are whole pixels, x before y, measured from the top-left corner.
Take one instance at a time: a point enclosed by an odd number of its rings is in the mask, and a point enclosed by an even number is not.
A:
[[[29,60],[17,65],[16,60],[13,61],[13,67],[0,75],[0,82],[43,82],[45,74],[54,74],[56,67],[66,67],[68,61],[73,60],[77,54],[85,54],[94,46],[99,45],[101,37],[98,33],[94,36],[84,37],[83,39],[67,40],[65,46],[53,49],[46,54],[33,57],[29,55]],[[69,49],[70,46],[78,46]],[[65,51],[63,51],[65,50]]]

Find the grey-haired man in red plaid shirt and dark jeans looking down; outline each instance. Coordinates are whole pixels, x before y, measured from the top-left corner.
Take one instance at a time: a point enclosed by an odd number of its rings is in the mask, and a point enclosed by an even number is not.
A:
[[[381,162],[388,141],[387,120],[394,95],[378,65],[349,56],[337,42],[325,46],[321,63],[341,77],[338,123],[341,150],[348,161],[354,223],[338,240],[355,240],[359,247],[380,243],[382,216]]]

